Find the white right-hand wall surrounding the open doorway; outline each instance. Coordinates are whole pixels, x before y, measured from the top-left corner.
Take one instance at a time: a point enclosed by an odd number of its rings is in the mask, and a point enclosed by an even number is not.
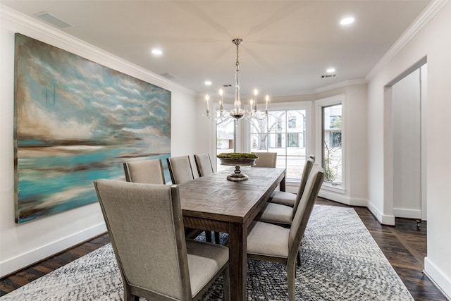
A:
[[[426,196],[428,212],[428,257],[425,271],[435,283],[451,296],[451,135],[446,132],[451,112],[451,2],[422,27],[393,57],[370,73],[368,86],[368,158],[369,208],[380,221],[390,220],[393,204],[385,202],[390,176],[385,173],[389,149],[384,137],[385,85],[427,56],[428,87],[426,116]],[[390,199],[389,196],[386,199]]]

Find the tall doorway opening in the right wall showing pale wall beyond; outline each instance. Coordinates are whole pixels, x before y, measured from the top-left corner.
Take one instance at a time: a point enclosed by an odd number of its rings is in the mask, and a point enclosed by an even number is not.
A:
[[[426,220],[427,64],[391,86],[393,216]]]

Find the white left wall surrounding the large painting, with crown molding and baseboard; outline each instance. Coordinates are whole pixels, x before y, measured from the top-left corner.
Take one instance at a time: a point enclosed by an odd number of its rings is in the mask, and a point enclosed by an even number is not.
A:
[[[140,78],[172,92],[171,153],[194,152],[196,114],[194,94],[158,75],[112,56],[63,32],[0,6],[0,276],[49,257],[104,233],[99,204],[89,204],[27,223],[14,221],[14,33],[39,39],[109,68]]]

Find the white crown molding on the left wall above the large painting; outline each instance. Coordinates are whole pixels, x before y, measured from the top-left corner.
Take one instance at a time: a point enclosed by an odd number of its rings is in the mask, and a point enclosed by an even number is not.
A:
[[[89,59],[90,61],[101,63],[109,68],[112,68],[111,66],[115,66],[113,69],[120,69],[118,71],[135,78],[139,78],[140,80],[150,82],[152,85],[157,85],[168,90],[178,90],[192,96],[195,95],[194,91],[175,84],[175,82],[163,78],[161,75],[157,75],[156,73],[152,73],[150,70],[137,66],[129,61],[125,61],[125,59],[121,59],[118,56],[110,54],[109,52],[95,47],[82,39],[68,35],[66,32],[58,30],[55,27],[51,27],[46,23],[30,18],[30,16],[15,11],[3,4],[0,4],[0,18],[20,25],[21,27],[30,30],[30,32],[37,33],[45,38],[46,41],[42,42],[51,42],[54,46],[56,46],[55,44],[58,44],[56,47],[61,47],[66,51],[68,51],[68,48],[76,49],[75,54],[82,56],[85,59]],[[27,35],[27,33],[24,33],[24,35]],[[73,52],[73,50],[70,50],[70,52]]]

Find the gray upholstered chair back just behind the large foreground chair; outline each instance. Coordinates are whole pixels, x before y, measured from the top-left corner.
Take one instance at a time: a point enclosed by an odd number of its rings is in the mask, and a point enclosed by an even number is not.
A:
[[[160,159],[124,162],[127,182],[165,184],[163,164]]]

